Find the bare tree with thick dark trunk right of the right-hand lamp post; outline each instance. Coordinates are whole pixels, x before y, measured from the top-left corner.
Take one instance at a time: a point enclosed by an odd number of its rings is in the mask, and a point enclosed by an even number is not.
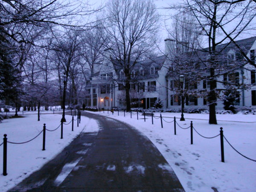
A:
[[[200,29],[200,35],[207,42],[207,49],[192,49],[195,51],[196,62],[200,62],[200,69],[205,73],[209,71],[210,91],[209,95],[209,124],[217,124],[215,104],[217,101],[218,90],[216,83],[218,77],[223,73],[216,73],[217,70],[223,70],[224,61],[230,61],[231,57],[227,57],[226,50],[229,47],[236,47],[235,55],[242,55],[242,58],[237,58],[237,62],[233,62],[237,67],[244,67],[245,61],[249,62],[254,67],[256,66],[250,58],[247,57],[247,51],[244,45],[239,45],[237,39],[243,33],[254,27],[253,19],[256,15],[255,1],[219,1],[219,0],[184,0],[183,3],[170,5],[169,8],[175,10],[174,15],[190,15],[196,20],[197,28]],[[224,44],[223,46],[220,46]],[[234,45],[234,46],[233,46]],[[230,55],[232,56],[232,55]],[[223,60],[224,59],[224,60]],[[229,62],[228,62],[229,63]],[[229,66],[226,67],[226,70]],[[230,67],[224,73],[235,71],[234,67]],[[204,74],[205,74],[204,73]],[[200,73],[198,73],[200,74]],[[202,74],[202,73],[201,73]],[[202,80],[200,75],[196,76]],[[223,83],[223,81],[222,81]]]

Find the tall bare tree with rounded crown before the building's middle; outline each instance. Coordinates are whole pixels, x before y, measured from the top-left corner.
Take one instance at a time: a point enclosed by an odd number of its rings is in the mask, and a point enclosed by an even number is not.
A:
[[[160,15],[152,0],[111,0],[104,14],[108,59],[124,74],[118,82],[125,86],[126,110],[130,111],[131,75],[140,58],[156,47]]]

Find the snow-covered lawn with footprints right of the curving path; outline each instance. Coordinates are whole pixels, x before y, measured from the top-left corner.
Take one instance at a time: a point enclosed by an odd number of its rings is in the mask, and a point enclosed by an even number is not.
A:
[[[91,112],[109,116],[126,122],[145,134],[172,166],[186,192],[256,192],[256,162],[248,160],[238,154],[224,140],[225,163],[221,162],[220,136],[205,139],[193,131],[193,145],[190,144],[190,128],[181,129],[176,126],[174,134],[173,118],[180,117],[180,113],[163,113],[163,128],[160,119],[151,116],[115,111],[112,113]],[[135,113],[135,112],[134,112]],[[154,113],[160,116],[160,113]],[[165,117],[165,118],[164,118]],[[169,117],[169,118],[168,118]],[[224,136],[241,154],[256,160],[256,116],[255,115],[217,115],[218,125],[209,125],[207,114],[184,114],[186,121],[177,123],[187,128],[190,121],[204,137],[214,137],[223,127]],[[205,119],[205,120],[199,120]]]

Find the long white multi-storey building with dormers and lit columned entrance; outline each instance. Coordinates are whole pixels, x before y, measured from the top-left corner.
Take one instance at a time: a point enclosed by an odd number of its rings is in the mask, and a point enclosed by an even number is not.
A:
[[[180,108],[180,96],[175,91],[175,85],[172,78],[169,76],[172,71],[168,57],[172,57],[169,52],[175,46],[175,41],[166,39],[166,55],[147,59],[135,64],[134,70],[131,72],[131,78],[134,80],[131,83],[133,94],[137,94],[140,99],[140,107],[151,108],[157,98],[163,100],[164,108]],[[247,56],[255,62],[256,52],[256,37],[236,41],[241,45]],[[217,46],[218,48],[224,45]],[[231,55],[232,59],[236,59],[235,46],[229,46],[224,50],[224,53]],[[108,50],[105,50],[108,57]],[[108,57],[110,58],[110,57]],[[250,70],[246,70],[250,69]],[[85,105],[100,109],[111,109],[112,107],[125,107],[120,101],[122,94],[125,94],[124,85],[120,79],[124,78],[122,68],[119,67],[113,60],[105,60],[102,64],[93,67],[94,73],[87,85],[87,96]],[[207,76],[207,74],[205,74]],[[186,81],[186,80],[185,80]],[[238,106],[254,106],[256,107],[256,77],[255,67],[250,64],[245,64],[244,68],[236,70],[233,74],[227,74],[218,79],[218,81],[234,81],[234,83],[251,85],[247,90],[237,90],[236,105]],[[190,89],[207,90],[209,82],[198,82],[198,84],[189,86]],[[216,89],[223,89],[221,83],[216,84]],[[122,100],[122,99],[121,99]],[[131,101],[132,102],[132,101]],[[195,96],[186,97],[185,108],[190,107],[207,107],[209,102],[207,98],[196,98]],[[222,101],[217,101],[217,109],[223,109]]]

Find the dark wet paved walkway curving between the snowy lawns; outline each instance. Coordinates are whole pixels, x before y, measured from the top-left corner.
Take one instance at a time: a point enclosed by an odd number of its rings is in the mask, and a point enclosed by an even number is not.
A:
[[[82,111],[99,133],[82,133],[9,192],[184,192],[151,141],[130,125]]]

